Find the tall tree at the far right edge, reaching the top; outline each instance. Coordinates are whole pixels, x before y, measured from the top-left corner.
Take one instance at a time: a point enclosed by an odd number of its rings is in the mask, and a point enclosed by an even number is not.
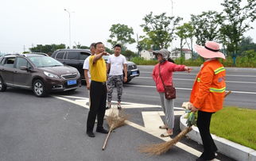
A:
[[[239,42],[242,40],[243,33],[253,29],[250,22],[256,18],[256,1],[224,0],[221,5],[224,6],[226,19],[223,21],[221,33],[226,37],[227,52],[233,57],[235,65],[235,59],[239,54]]]

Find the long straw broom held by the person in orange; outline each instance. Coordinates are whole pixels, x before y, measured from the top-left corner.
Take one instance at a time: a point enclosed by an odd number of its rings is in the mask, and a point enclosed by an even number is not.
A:
[[[231,90],[228,91],[224,97],[226,98],[228,94],[231,94]],[[195,113],[189,112],[188,120],[186,123],[188,127],[184,128],[177,136],[173,138],[173,140],[169,140],[161,144],[150,144],[150,145],[141,146],[139,147],[139,151],[142,153],[147,153],[149,155],[161,155],[166,151],[169,151],[169,149],[172,148],[173,145],[179,142],[181,138],[183,138],[185,135],[188,134],[188,132],[192,130],[192,125],[196,124]]]

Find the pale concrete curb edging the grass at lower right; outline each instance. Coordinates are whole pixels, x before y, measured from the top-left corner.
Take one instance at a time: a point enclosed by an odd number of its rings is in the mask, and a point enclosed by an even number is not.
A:
[[[187,119],[184,118],[185,116],[186,113],[180,117],[180,130],[183,130],[187,127]],[[192,126],[192,128],[192,131],[187,134],[188,138],[196,141],[198,144],[202,144],[198,128],[196,126]],[[236,144],[230,140],[223,139],[213,134],[211,134],[211,136],[215,141],[218,152],[222,153],[223,155],[227,155],[228,157],[236,160],[256,161],[256,151],[254,151],[254,149]]]

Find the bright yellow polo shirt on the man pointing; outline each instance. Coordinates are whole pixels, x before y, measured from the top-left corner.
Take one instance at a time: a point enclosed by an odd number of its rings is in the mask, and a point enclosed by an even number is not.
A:
[[[106,82],[107,81],[107,67],[105,60],[103,58],[98,59],[96,63],[93,63],[95,56],[91,56],[89,59],[91,80],[96,82]]]

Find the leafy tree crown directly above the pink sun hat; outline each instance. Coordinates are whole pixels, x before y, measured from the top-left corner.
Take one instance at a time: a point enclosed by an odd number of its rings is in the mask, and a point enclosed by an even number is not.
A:
[[[204,45],[207,40],[217,40],[222,21],[222,13],[216,11],[192,14],[191,24],[195,29],[196,44]]]

